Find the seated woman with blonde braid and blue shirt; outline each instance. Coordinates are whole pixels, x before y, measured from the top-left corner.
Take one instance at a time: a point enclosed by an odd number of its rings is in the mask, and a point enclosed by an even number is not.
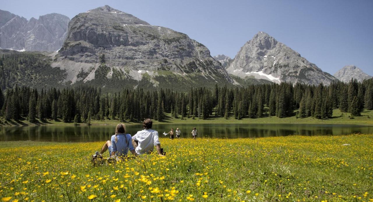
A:
[[[116,126],[115,135],[112,136],[111,140],[104,143],[100,152],[96,152],[95,155],[92,156],[92,161],[99,156],[102,158],[101,156],[104,152],[106,152],[106,150],[109,150],[110,157],[125,157],[127,156],[128,150],[130,150],[131,153],[136,156],[134,146],[132,145],[132,137],[130,134],[126,134],[125,132],[126,125],[118,124]]]

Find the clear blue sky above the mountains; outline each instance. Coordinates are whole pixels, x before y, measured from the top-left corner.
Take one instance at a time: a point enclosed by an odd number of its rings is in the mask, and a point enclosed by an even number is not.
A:
[[[0,9],[27,19],[47,13],[73,18],[105,4],[188,34],[213,56],[233,58],[264,31],[330,74],[356,65],[373,75],[372,0],[7,0]]]

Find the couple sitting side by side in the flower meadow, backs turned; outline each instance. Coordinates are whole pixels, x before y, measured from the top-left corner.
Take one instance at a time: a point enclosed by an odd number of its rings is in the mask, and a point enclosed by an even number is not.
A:
[[[115,135],[112,136],[111,140],[108,140],[101,148],[100,152],[96,152],[92,156],[92,161],[97,157],[102,159],[102,154],[109,150],[111,158],[126,157],[128,150],[134,155],[142,155],[144,153],[153,152],[154,146],[157,148],[157,152],[160,156],[163,156],[161,144],[158,139],[158,132],[151,130],[153,121],[151,119],[145,119],[142,123],[144,130],[138,131],[134,136],[126,134],[126,126],[124,124],[118,124],[115,130]]]

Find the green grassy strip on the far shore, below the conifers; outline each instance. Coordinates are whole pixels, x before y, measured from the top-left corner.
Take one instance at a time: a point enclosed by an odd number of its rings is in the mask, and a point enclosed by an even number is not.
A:
[[[296,111],[295,111],[296,112]],[[294,112],[294,114],[295,114]],[[333,118],[330,119],[317,119],[313,117],[308,118],[296,118],[295,116],[278,118],[276,116],[271,117],[261,117],[261,118],[244,118],[241,120],[234,119],[233,116],[225,119],[223,117],[211,117],[209,119],[199,119],[199,118],[173,118],[170,114],[166,114],[166,119],[162,122],[154,121],[154,124],[354,124],[354,125],[373,125],[373,111],[364,110],[361,112],[361,116],[355,116],[354,119],[350,119],[349,113],[343,113],[339,109],[333,110]],[[116,125],[120,122],[119,120],[103,120],[97,121],[92,120],[92,125]],[[126,124],[141,124],[141,122],[125,122]],[[74,123],[64,123],[62,121],[47,120],[44,122],[38,121],[37,124],[30,123],[27,120],[22,121],[5,121],[0,120],[1,126],[13,126],[13,125],[73,125]],[[85,123],[80,123],[80,125],[86,125]]]

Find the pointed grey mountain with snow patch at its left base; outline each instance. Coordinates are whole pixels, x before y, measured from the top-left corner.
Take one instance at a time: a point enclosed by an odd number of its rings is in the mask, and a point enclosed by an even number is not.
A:
[[[258,32],[241,47],[227,71],[242,78],[254,76],[275,83],[317,85],[330,84],[335,80],[335,77],[264,32]]]

